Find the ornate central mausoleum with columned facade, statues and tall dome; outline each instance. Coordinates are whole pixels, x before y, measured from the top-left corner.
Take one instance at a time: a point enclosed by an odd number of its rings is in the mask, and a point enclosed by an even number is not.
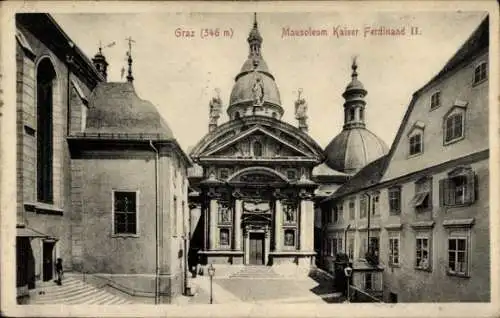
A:
[[[313,169],[324,161],[323,151],[307,133],[301,95],[298,126],[281,120],[285,110],[262,43],[255,20],[248,58],[231,91],[229,121],[217,124],[222,101],[213,98],[209,131],[190,153],[198,166],[190,175],[190,199],[200,233],[192,247],[205,264],[309,268],[315,257]]]

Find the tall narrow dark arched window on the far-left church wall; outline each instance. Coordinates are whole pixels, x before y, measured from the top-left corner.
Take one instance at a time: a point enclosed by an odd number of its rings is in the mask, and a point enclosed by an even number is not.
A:
[[[36,74],[37,107],[37,199],[53,202],[52,180],[52,109],[56,72],[48,58],[43,59]]]

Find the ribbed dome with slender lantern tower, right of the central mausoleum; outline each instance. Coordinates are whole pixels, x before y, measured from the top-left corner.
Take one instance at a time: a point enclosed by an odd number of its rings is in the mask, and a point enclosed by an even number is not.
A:
[[[358,65],[352,63],[352,80],[342,97],[344,103],[344,126],[325,149],[325,163],[332,169],[355,174],[368,163],[386,155],[387,145],[377,135],[366,129],[365,96],[367,91],[358,80]]]

